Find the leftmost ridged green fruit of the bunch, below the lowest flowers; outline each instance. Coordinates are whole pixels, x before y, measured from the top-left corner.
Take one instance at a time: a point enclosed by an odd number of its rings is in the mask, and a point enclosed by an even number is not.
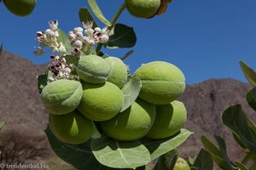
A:
[[[78,107],[82,94],[83,88],[80,82],[61,79],[49,82],[41,93],[41,99],[49,113],[63,115]]]

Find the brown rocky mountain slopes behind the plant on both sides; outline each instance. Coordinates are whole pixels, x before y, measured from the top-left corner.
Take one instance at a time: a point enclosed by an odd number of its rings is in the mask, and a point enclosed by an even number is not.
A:
[[[35,139],[35,143],[36,139],[40,140],[42,147],[52,153],[43,132],[48,122],[47,112],[37,89],[37,76],[46,70],[46,65],[35,65],[9,52],[3,52],[0,59],[0,120],[6,122],[1,133],[26,133],[27,139]],[[247,115],[256,122],[255,113],[245,99],[251,88],[249,84],[233,79],[212,79],[188,85],[179,100],[183,101],[188,111],[185,127],[194,134],[179,147],[182,155],[193,157],[198,153],[201,135],[210,139],[218,135],[226,139],[230,157],[240,158],[242,152],[230,131],[222,124],[221,115],[230,105],[241,104]],[[1,140],[0,149],[3,144]]]

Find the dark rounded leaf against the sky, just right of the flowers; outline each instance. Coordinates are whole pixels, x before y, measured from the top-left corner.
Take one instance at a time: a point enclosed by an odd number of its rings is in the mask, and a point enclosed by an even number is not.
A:
[[[137,37],[132,27],[116,24],[110,32],[108,48],[131,48],[136,42]]]

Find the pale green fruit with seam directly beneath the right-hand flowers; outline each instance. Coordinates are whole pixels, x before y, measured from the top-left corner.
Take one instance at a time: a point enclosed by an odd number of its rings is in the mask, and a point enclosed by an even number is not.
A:
[[[106,82],[110,66],[97,55],[84,55],[79,59],[77,73],[84,82],[93,84]]]

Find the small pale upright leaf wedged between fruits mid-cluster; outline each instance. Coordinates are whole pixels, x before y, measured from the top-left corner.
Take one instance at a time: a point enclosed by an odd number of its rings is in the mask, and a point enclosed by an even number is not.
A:
[[[131,78],[121,89],[124,94],[124,105],[120,112],[125,111],[137,99],[142,88],[142,81],[139,78]]]

